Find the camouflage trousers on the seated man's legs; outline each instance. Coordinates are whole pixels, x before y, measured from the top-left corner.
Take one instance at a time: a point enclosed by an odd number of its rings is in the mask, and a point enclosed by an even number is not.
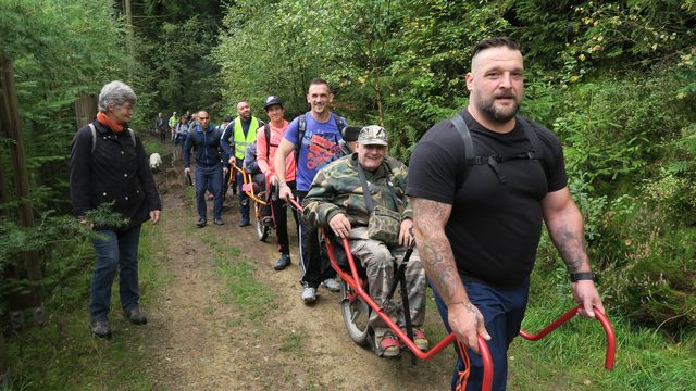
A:
[[[391,320],[396,321],[399,327],[406,328],[403,306],[400,301],[394,299],[400,297],[399,289],[397,288],[391,300],[386,301],[396,273],[395,265],[401,264],[406,248],[389,249],[381,241],[369,239],[366,227],[351,229],[348,239],[350,252],[356,260],[360,260],[368,274],[370,297],[377,305],[384,308],[384,312],[389,315]],[[413,249],[413,253],[411,253],[406,266],[406,286],[411,321],[413,327],[420,328],[425,319],[426,280],[425,270],[415,249]],[[376,336],[382,336],[387,330],[386,324],[376,312],[372,312],[369,323]]]

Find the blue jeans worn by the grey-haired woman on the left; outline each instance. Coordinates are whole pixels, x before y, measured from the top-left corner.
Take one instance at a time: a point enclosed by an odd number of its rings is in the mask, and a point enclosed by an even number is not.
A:
[[[91,276],[89,314],[92,321],[107,320],[111,308],[111,286],[119,269],[119,294],[123,310],[138,307],[138,243],[140,226],[126,231],[97,230],[94,239],[97,262]]]

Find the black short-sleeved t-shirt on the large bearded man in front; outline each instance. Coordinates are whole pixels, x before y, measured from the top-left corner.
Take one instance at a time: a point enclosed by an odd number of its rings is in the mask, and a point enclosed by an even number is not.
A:
[[[519,121],[512,131],[497,134],[467,110],[461,115],[476,155],[512,156],[532,150]],[[473,156],[464,156],[464,141],[449,119],[435,124],[411,155],[407,193],[452,205],[445,232],[465,279],[520,286],[534,266],[542,235],[540,201],[567,186],[560,142],[543,126],[527,124],[538,135],[544,159],[499,163],[505,182],[488,165],[465,164],[465,157]]]

